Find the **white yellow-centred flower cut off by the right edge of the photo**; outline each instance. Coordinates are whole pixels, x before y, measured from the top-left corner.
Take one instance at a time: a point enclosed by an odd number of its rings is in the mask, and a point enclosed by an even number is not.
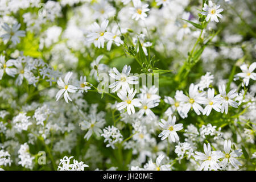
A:
[[[245,86],[249,85],[250,78],[256,80],[256,73],[253,73],[256,68],[256,62],[252,63],[248,68],[246,64],[241,65],[242,73],[238,73],[235,77],[242,77]],[[242,85],[243,86],[243,85]]]

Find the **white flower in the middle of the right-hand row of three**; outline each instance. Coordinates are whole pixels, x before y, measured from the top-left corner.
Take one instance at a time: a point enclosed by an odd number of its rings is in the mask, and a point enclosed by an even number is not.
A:
[[[220,112],[221,111],[220,101],[221,101],[220,98],[217,98],[217,96],[214,97],[214,89],[208,89],[207,99],[203,103],[203,104],[206,104],[207,106],[205,106],[203,114],[209,115],[212,109],[216,110],[217,112]]]

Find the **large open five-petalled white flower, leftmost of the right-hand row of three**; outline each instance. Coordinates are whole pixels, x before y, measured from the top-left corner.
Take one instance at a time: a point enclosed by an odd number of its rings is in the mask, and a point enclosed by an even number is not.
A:
[[[205,92],[199,93],[198,86],[191,84],[189,86],[189,97],[185,96],[183,93],[176,93],[176,100],[180,102],[184,102],[185,105],[183,106],[183,113],[187,114],[188,111],[193,107],[193,110],[196,112],[197,115],[200,115],[204,109],[201,105],[205,101]]]

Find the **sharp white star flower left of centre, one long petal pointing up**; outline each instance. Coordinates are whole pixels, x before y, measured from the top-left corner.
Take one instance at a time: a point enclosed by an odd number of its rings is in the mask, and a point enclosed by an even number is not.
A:
[[[76,86],[68,85],[69,78],[72,76],[72,74],[73,74],[72,72],[68,72],[64,78],[64,82],[61,79],[61,77],[57,81],[57,84],[63,89],[61,89],[61,90],[59,90],[59,92],[57,92],[56,101],[59,100],[59,98],[62,96],[63,93],[64,93],[64,99],[67,103],[68,103],[68,100],[72,101],[71,97],[69,97],[69,95],[68,95],[68,92],[75,93],[77,90]]]

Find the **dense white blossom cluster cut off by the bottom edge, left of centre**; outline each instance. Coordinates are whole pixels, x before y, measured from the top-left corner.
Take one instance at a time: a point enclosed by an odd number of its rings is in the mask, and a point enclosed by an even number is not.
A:
[[[70,163],[70,160],[73,158],[64,156],[63,159],[60,159],[60,164],[57,168],[58,171],[84,171],[85,167],[89,167],[84,162],[78,162],[78,160],[73,159],[73,164]],[[62,166],[61,166],[62,165]]]

